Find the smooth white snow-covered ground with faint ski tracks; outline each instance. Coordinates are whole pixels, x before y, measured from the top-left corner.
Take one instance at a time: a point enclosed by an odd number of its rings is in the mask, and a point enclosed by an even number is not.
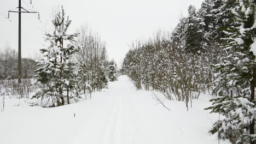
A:
[[[208,130],[218,115],[203,110],[209,99],[201,95],[189,111],[183,102],[166,100],[168,111],[152,92],[137,91],[127,76],[77,104],[42,108],[7,99],[0,143],[217,144],[217,135]]]

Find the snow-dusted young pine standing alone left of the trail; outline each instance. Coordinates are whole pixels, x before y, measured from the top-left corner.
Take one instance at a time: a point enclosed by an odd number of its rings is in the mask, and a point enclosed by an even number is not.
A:
[[[33,82],[46,86],[33,97],[41,98],[43,106],[49,101],[51,106],[65,105],[65,99],[69,104],[69,95],[74,89],[77,77],[72,57],[79,51],[79,47],[73,44],[74,37],[78,34],[67,34],[71,20],[66,17],[63,7],[56,13],[52,22],[55,31],[52,34],[45,34],[45,41],[49,43],[49,47],[40,49],[44,58],[38,61],[39,68],[35,71],[36,80]]]

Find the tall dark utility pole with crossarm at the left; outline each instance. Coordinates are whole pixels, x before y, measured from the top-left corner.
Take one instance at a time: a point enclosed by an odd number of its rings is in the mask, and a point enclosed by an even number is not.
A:
[[[21,13],[38,13],[36,11],[28,11],[21,7],[21,0],[19,0],[19,11],[13,11],[9,10],[8,13],[19,13],[19,58],[18,58],[18,82],[21,83]],[[24,10],[24,11],[21,11]],[[9,14],[8,14],[9,18]],[[38,19],[39,19],[39,13],[38,13]]]

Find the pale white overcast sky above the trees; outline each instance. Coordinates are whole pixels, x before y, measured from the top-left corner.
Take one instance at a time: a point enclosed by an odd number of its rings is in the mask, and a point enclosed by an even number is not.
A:
[[[32,0],[40,13],[22,14],[22,57],[34,58],[43,47],[43,35],[51,25],[52,9],[63,5],[72,20],[69,33],[87,23],[106,41],[109,58],[121,64],[132,41],[148,39],[159,29],[171,31],[181,14],[187,16],[190,4],[200,8],[203,0]],[[10,13],[11,22],[5,17],[8,10],[18,7],[18,0],[0,1],[0,49],[8,43],[18,51],[18,14]],[[34,10],[30,0],[22,0],[22,7]],[[5,16],[3,16],[3,15]]]

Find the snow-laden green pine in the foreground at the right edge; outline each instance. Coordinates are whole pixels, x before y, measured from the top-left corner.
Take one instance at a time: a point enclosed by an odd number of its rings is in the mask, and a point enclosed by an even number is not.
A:
[[[235,17],[225,29],[228,36],[224,56],[216,64],[213,82],[211,112],[225,116],[213,124],[211,133],[219,132],[222,139],[232,143],[255,143],[256,108],[254,89],[256,82],[256,21],[255,2],[228,1],[226,9]],[[232,20],[230,20],[232,21]]]

